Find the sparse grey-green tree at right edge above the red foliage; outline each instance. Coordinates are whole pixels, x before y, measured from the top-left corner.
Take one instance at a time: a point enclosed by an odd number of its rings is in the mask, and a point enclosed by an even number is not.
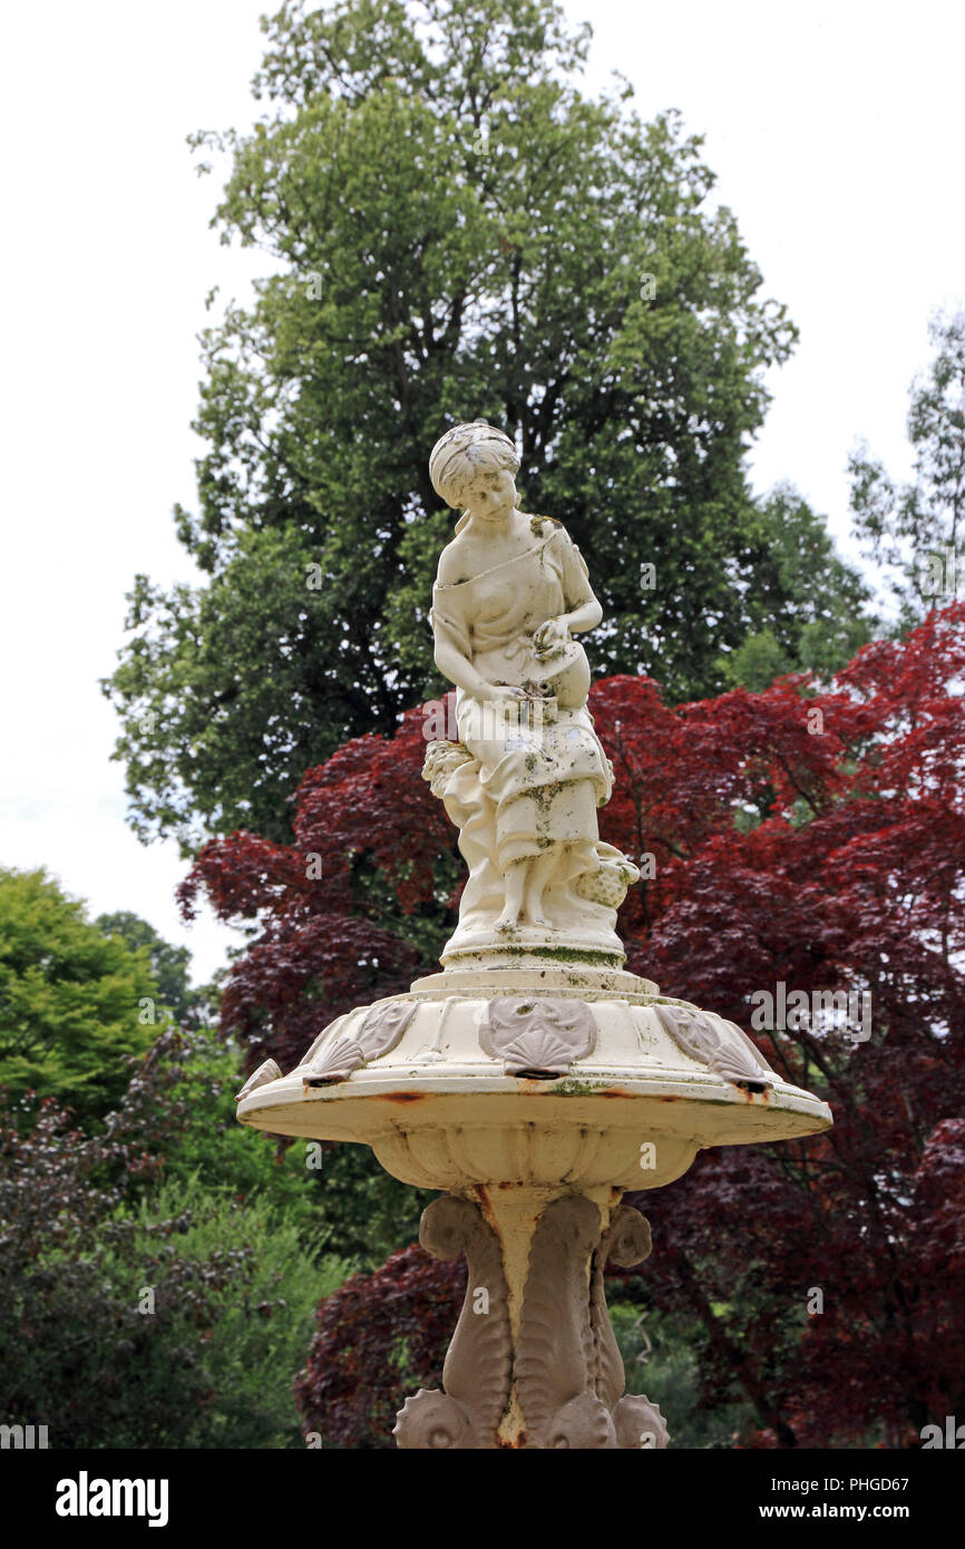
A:
[[[849,459],[855,528],[897,570],[901,629],[965,593],[965,311],[932,318],[929,339],[936,356],[908,410],[914,482],[895,485],[866,446]]]

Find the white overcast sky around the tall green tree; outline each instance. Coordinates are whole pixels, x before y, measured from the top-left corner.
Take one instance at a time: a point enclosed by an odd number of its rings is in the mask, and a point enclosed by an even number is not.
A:
[[[231,932],[211,919],[183,928],[175,847],[146,849],[127,829],[98,678],[135,572],[194,576],[170,507],[195,499],[195,335],[208,290],[243,297],[259,259],[209,231],[217,183],[195,175],[184,136],[243,129],[260,110],[248,82],[263,9],[48,0],[3,23],[0,864],[45,864],[94,912],[144,915],[192,948],[198,979]],[[793,480],[846,539],[850,446],[864,435],[906,472],[928,318],[965,304],[965,8],[565,9],[595,25],[592,90],[620,68],[644,116],[677,107],[706,135],[719,197],[801,328],[771,383],[754,482]]]

